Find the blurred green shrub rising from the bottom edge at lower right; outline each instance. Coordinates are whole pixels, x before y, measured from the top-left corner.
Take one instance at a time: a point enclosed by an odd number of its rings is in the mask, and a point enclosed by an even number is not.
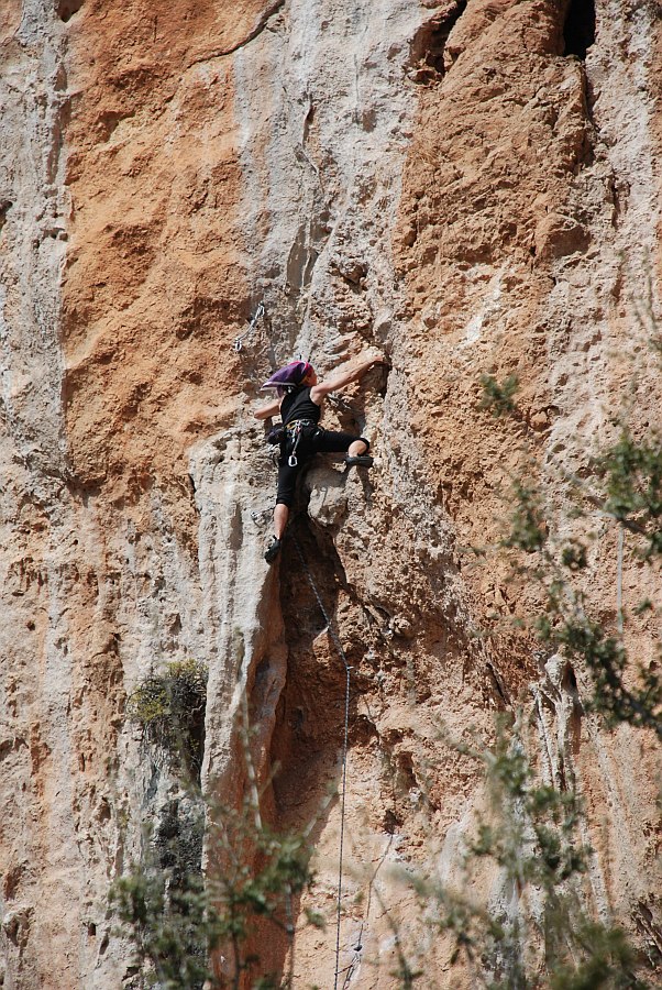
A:
[[[462,956],[476,988],[646,990],[637,976],[642,960],[626,933],[585,906],[592,850],[581,838],[577,798],[571,787],[558,790],[539,779],[522,728],[521,715],[514,725],[501,718],[492,746],[456,746],[482,766],[489,794],[475,837],[465,843],[460,882],[442,884],[416,871],[406,882],[428,924],[451,935],[451,964]],[[498,867],[501,908],[470,893],[481,889],[486,860]],[[415,980],[402,969],[405,990]],[[407,970],[415,972],[411,960]]]

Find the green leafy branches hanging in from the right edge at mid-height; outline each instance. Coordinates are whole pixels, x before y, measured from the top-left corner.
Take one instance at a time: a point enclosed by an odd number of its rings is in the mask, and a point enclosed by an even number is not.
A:
[[[494,409],[490,397],[506,391],[506,386],[492,385],[485,392],[484,406]],[[499,414],[511,411],[503,403],[498,406]],[[518,418],[523,419],[521,415]],[[624,635],[628,619],[654,610],[653,603],[646,598],[628,614],[617,593],[618,614],[610,627],[602,616],[592,614],[577,580],[588,565],[596,519],[611,519],[619,529],[617,582],[622,578],[626,548],[651,565],[662,560],[662,438],[655,431],[636,438],[627,422],[614,425],[619,429],[618,439],[592,459],[587,477],[562,475],[575,528],[578,521],[585,531],[578,538],[561,537],[550,521],[554,513],[545,505],[541,487],[529,479],[518,479],[511,491],[509,532],[501,548],[520,554],[514,574],[543,591],[544,607],[530,626],[544,649],[559,650],[591,674],[593,692],[584,701],[585,707],[599,712],[609,726],[648,727],[662,738],[662,650],[658,647],[657,661],[644,666],[630,656]]]

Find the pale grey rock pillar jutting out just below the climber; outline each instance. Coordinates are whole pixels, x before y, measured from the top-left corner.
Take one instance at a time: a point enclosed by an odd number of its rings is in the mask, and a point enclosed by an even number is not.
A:
[[[222,822],[217,803],[239,809],[246,794],[244,734],[250,739],[254,785],[261,800],[268,802],[272,734],[285,683],[287,649],[276,571],[263,560],[263,535],[254,512],[253,482],[264,470],[256,435],[247,429],[228,431],[201,444],[191,463],[205,588],[200,618],[210,658],[202,787],[210,798],[212,822],[217,815]],[[209,835],[213,840],[213,825]],[[223,869],[218,855],[208,844],[205,862],[212,875]]]

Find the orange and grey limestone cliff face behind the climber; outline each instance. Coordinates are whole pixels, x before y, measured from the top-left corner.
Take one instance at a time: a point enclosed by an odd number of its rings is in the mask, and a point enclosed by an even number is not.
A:
[[[658,306],[660,23],[653,0],[5,0],[5,987],[128,985],[108,887],[185,802],[123,713],[167,660],[209,664],[210,792],[244,784],[246,693],[257,772],[280,767],[265,811],[324,806],[344,669],[294,536],[354,668],[343,986],[396,985],[394,921],[424,986],[471,986],[388,867],[454,876],[484,799],[438,723],[488,729],[518,701],[543,772],[585,796],[595,910],[661,947],[652,739],[580,717],[585,673],[495,625],[534,592],[464,552],[498,538],[525,458],[563,518],[610,414],[659,417],[636,312]],[[257,388],[367,348],[393,369],[326,424],[368,435],[375,468],[320,461],[269,569]],[[496,426],[478,378],[510,371],[525,421]],[[602,526],[587,591],[610,620]],[[659,576],[626,553],[624,590]],[[642,658],[658,635],[632,630]],[[333,983],[339,821],[332,802],[313,833],[330,927],[299,939],[301,988]]]

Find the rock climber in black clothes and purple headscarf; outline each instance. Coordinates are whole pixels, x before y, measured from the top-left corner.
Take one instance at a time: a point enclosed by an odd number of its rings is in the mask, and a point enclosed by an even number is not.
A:
[[[278,491],[274,509],[274,538],[267,547],[264,559],[272,563],[280,551],[287,527],[297,475],[316,453],[346,453],[347,468],[372,468],[368,455],[369,440],[353,433],[338,433],[319,426],[322,403],[331,392],[338,392],[352,382],[358,382],[378,364],[387,364],[385,358],[363,360],[355,367],[335,375],[329,381],[318,382],[316,371],[308,361],[293,361],[278,369],[264,383],[263,388],[275,388],[278,397],[254,413],[256,419],[268,419],[278,411],[283,427],[279,435],[280,455],[278,458]]]

